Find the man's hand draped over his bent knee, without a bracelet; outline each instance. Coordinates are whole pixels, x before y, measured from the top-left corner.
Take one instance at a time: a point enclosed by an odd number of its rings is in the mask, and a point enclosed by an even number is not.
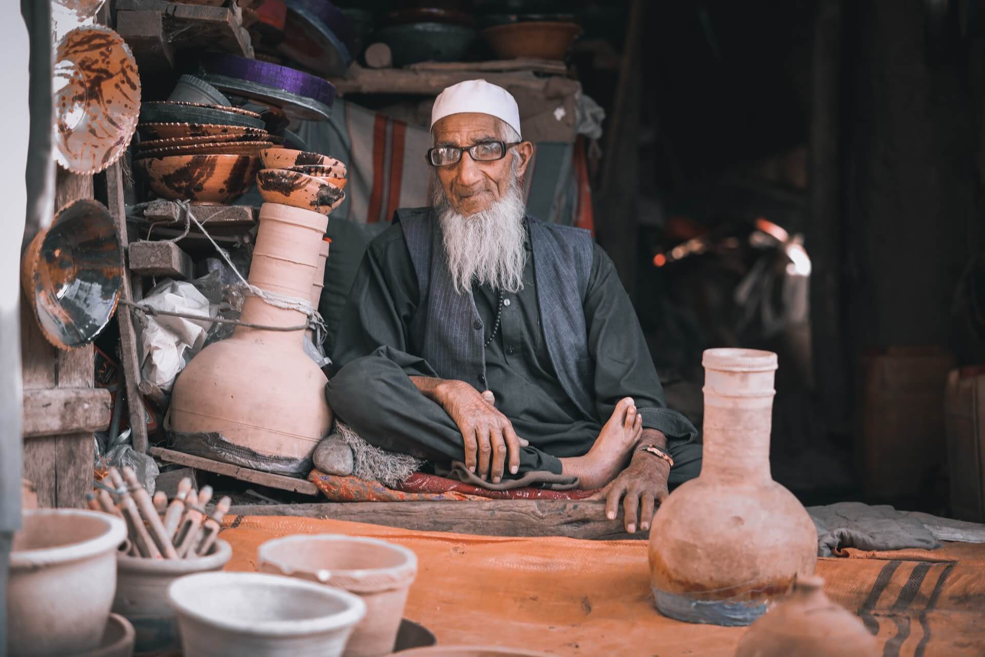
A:
[[[430,392],[428,396],[462,432],[465,467],[493,484],[499,483],[506,467],[516,474],[520,467],[520,447],[530,443],[519,437],[506,416],[495,409],[493,393],[480,393],[465,381],[450,380],[434,384]]]

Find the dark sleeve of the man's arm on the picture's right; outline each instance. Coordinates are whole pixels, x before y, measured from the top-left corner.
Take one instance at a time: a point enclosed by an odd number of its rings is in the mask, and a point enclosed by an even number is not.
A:
[[[612,260],[598,245],[583,307],[588,349],[595,364],[595,405],[602,422],[612,416],[619,400],[632,397],[643,427],[658,429],[668,439],[697,437],[697,429],[687,418],[667,408],[632,302]]]

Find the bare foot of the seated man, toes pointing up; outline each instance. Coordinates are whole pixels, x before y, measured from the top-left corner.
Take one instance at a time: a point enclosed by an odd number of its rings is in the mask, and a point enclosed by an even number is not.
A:
[[[583,490],[605,486],[623,472],[642,428],[632,398],[624,397],[587,454],[560,459],[561,472],[577,476]]]

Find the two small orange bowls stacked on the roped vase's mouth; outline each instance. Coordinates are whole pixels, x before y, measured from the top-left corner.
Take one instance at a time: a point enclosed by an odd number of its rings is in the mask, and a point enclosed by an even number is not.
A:
[[[328,215],[346,198],[346,165],[318,153],[270,148],[260,152],[263,168],[256,175],[260,196]]]

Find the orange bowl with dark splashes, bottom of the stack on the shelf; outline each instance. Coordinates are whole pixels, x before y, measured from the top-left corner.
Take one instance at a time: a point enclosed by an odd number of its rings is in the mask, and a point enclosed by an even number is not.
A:
[[[226,203],[252,186],[260,159],[245,155],[178,155],[145,158],[134,165],[161,198]]]

